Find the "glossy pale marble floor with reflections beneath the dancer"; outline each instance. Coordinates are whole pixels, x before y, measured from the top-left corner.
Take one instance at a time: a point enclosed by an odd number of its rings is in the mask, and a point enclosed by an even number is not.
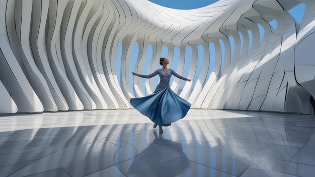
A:
[[[315,176],[315,116],[134,109],[0,116],[0,176]]]

